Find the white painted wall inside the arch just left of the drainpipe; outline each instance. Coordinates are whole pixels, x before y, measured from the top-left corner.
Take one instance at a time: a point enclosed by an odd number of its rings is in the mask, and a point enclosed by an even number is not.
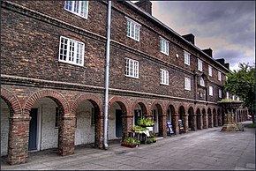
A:
[[[92,108],[90,101],[84,100],[77,110],[77,128],[75,131],[75,145],[94,143],[95,125],[91,124]]]

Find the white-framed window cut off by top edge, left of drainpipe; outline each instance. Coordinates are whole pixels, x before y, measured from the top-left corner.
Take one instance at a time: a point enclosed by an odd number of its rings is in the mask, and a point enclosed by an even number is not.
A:
[[[87,19],[88,1],[65,1],[64,9]]]

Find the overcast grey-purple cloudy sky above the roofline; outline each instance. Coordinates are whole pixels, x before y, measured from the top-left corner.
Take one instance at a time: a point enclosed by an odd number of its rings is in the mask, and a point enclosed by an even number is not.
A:
[[[151,1],[152,15],[177,33],[192,33],[198,48],[212,48],[230,70],[255,63],[254,1]]]

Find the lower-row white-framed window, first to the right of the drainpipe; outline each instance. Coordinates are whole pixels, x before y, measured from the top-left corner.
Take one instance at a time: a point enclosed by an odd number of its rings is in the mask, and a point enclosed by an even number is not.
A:
[[[139,78],[139,62],[125,58],[125,76]]]

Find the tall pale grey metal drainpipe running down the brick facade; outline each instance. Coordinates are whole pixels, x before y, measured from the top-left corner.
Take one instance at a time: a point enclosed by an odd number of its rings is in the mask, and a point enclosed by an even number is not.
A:
[[[111,1],[108,1],[108,26],[107,26],[107,49],[106,49],[106,71],[105,71],[105,104],[104,104],[104,132],[103,146],[107,150],[108,145],[108,107],[109,107],[109,44],[111,23]]]

